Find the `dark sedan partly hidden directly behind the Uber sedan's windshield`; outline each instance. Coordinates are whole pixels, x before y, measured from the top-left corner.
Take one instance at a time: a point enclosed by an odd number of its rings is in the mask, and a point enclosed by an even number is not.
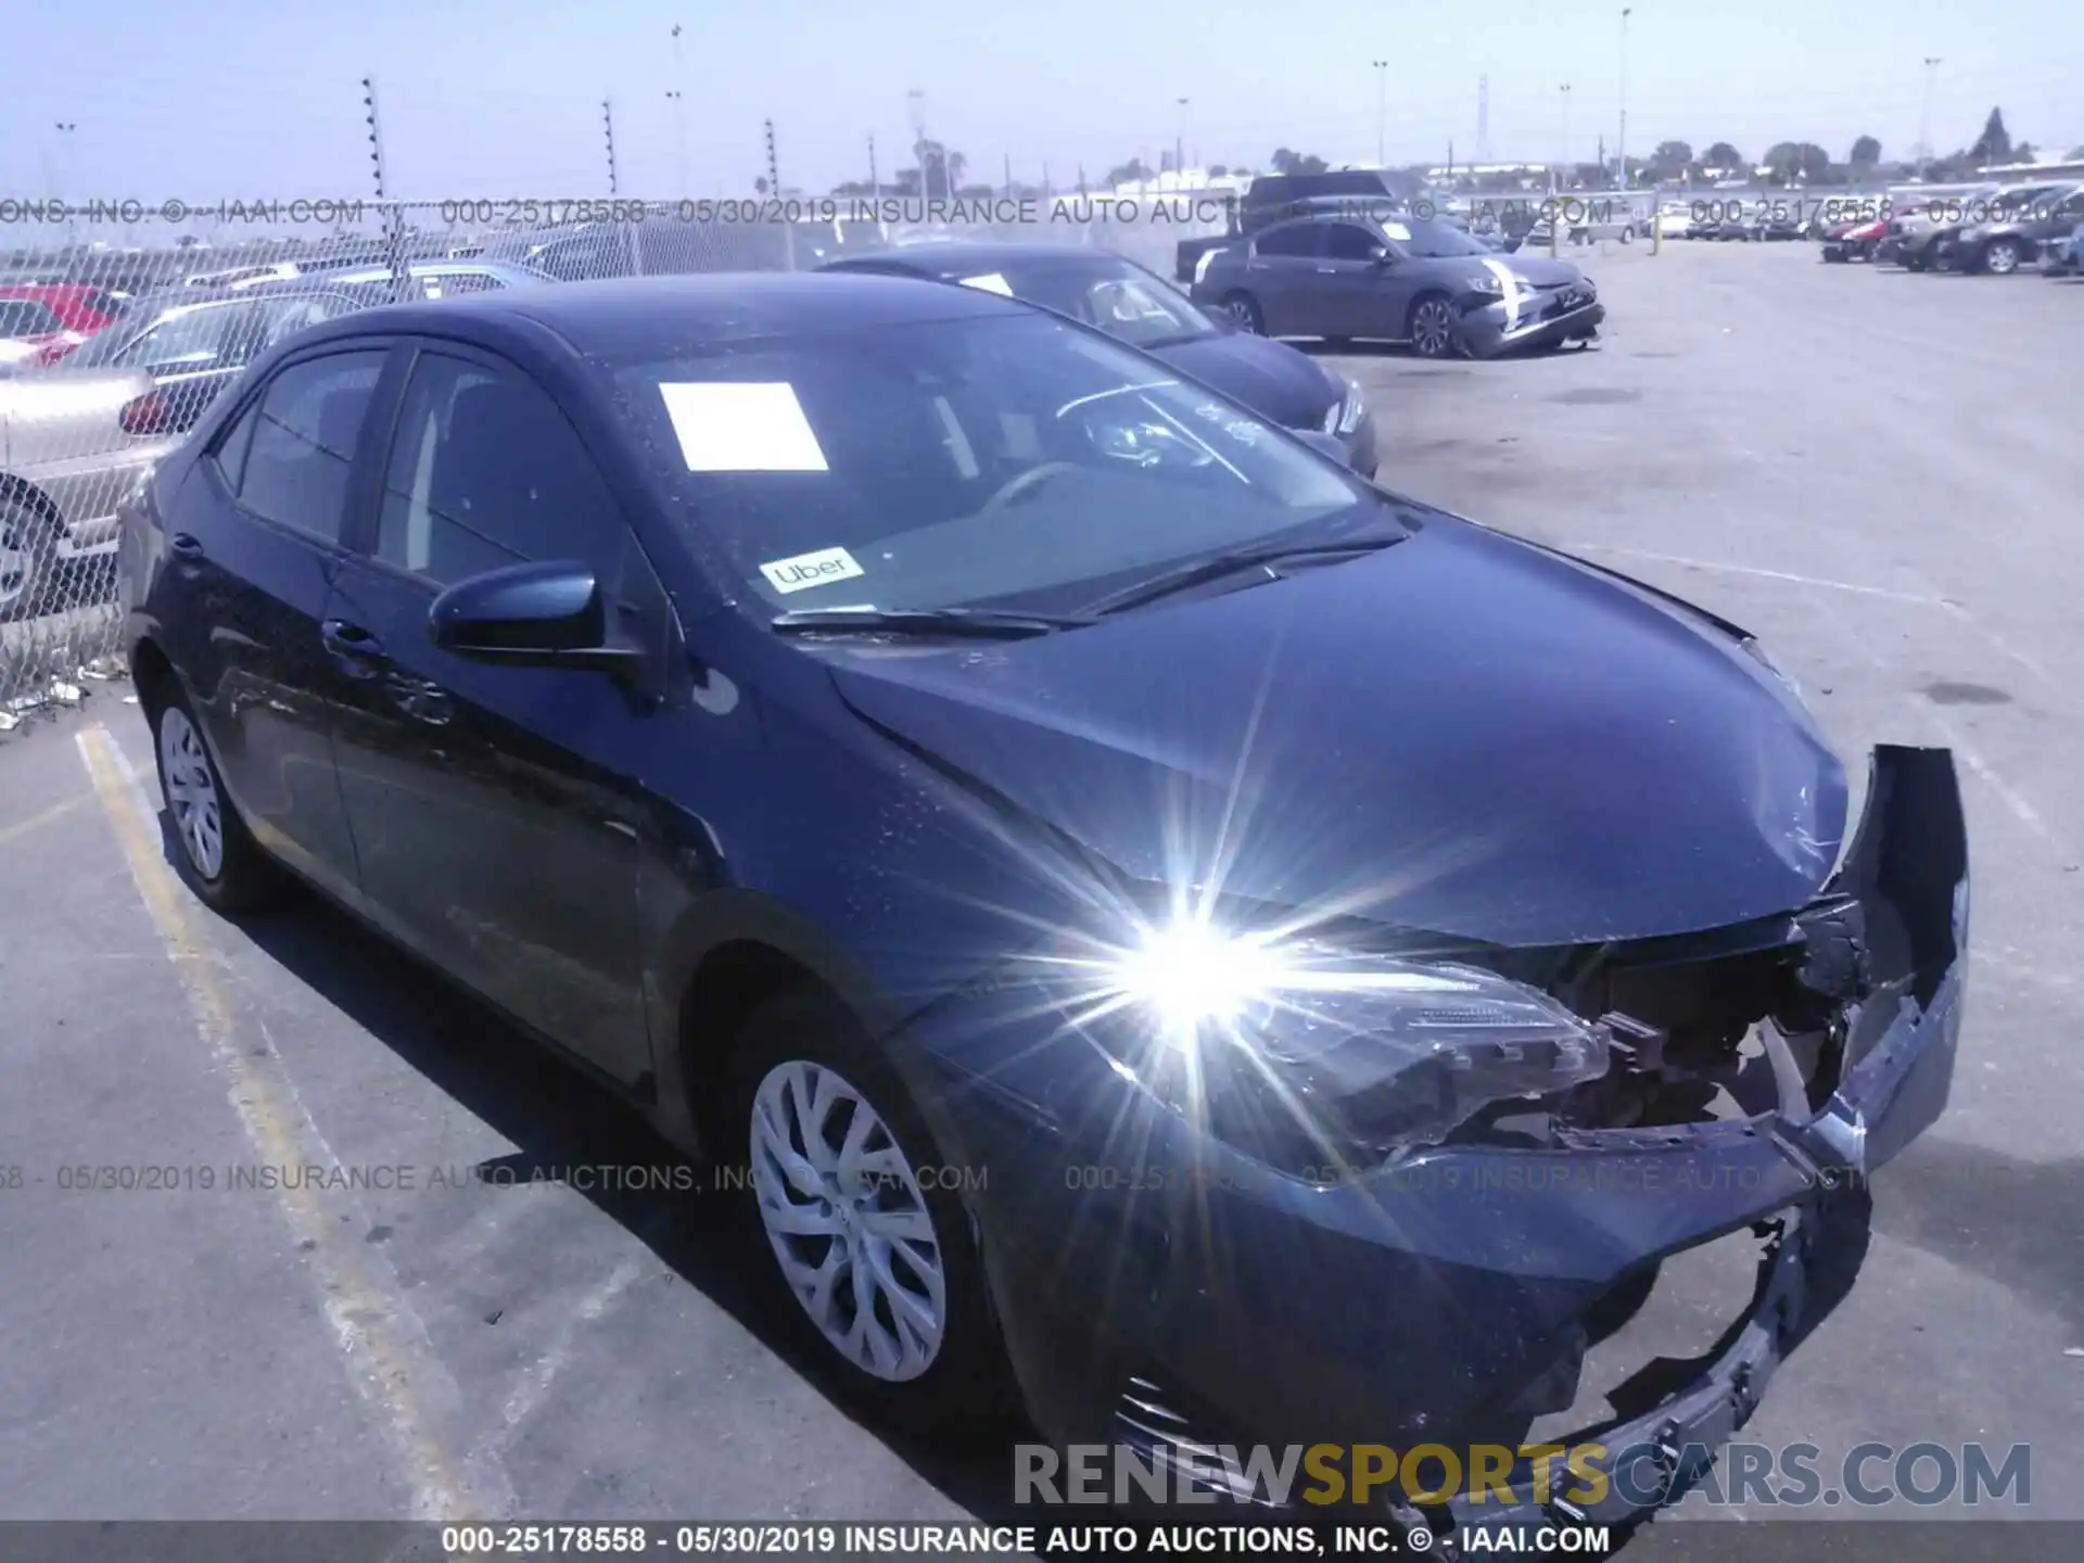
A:
[[[1109,250],[1069,244],[911,244],[832,260],[825,271],[879,271],[965,283],[1096,325],[1132,348],[1236,396],[1284,429],[1334,436],[1346,463],[1375,475],[1375,415],[1365,392],[1286,342],[1236,329]]]

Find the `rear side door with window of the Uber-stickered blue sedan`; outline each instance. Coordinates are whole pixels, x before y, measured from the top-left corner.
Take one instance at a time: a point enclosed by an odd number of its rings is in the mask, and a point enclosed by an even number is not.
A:
[[[281,365],[213,440],[169,513],[158,604],[242,817],[260,844],[352,900],[354,844],[333,777],[346,679],[319,619],[390,350]]]

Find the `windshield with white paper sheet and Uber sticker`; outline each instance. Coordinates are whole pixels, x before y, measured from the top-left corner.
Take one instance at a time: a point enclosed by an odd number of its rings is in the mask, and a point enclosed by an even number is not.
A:
[[[723,344],[617,371],[756,611],[1071,609],[1115,577],[1396,506],[1046,315]]]

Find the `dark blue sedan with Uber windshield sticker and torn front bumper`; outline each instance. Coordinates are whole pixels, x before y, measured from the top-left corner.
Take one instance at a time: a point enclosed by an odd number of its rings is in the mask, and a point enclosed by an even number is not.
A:
[[[194,892],[304,879],[634,1098],[929,1428],[1227,1490],[1223,1444],[1513,1446],[1736,1234],[1721,1342],[1615,1392],[1613,1519],[1946,1102],[1944,750],[1880,750],[1849,840],[1740,629],[990,292],[329,321],[121,575]],[[1444,1507],[1536,1513],[1503,1480]]]

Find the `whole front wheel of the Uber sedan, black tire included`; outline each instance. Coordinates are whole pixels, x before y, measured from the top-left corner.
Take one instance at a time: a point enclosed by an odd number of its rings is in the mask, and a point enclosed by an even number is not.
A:
[[[727,1098],[719,1140],[725,1165],[752,1169],[744,1198],[748,1242],[761,1250],[754,1265],[788,1296],[777,1313],[846,1394],[921,1434],[965,1436],[1009,1421],[1017,1394],[969,1211],[942,1182],[921,1186],[917,1169],[948,1161],[859,1023],[823,994],[767,1000],[731,1046]],[[844,1161],[861,1111],[875,1119],[859,1152],[875,1159],[867,1177]],[[807,1117],[823,1132],[813,1136]],[[873,1280],[873,1259],[859,1263],[877,1242],[888,1286]],[[857,1328],[861,1273],[871,1275],[873,1330]],[[819,1277],[823,1302],[813,1290]],[[940,1334],[929,1338],[936,1321]]]

